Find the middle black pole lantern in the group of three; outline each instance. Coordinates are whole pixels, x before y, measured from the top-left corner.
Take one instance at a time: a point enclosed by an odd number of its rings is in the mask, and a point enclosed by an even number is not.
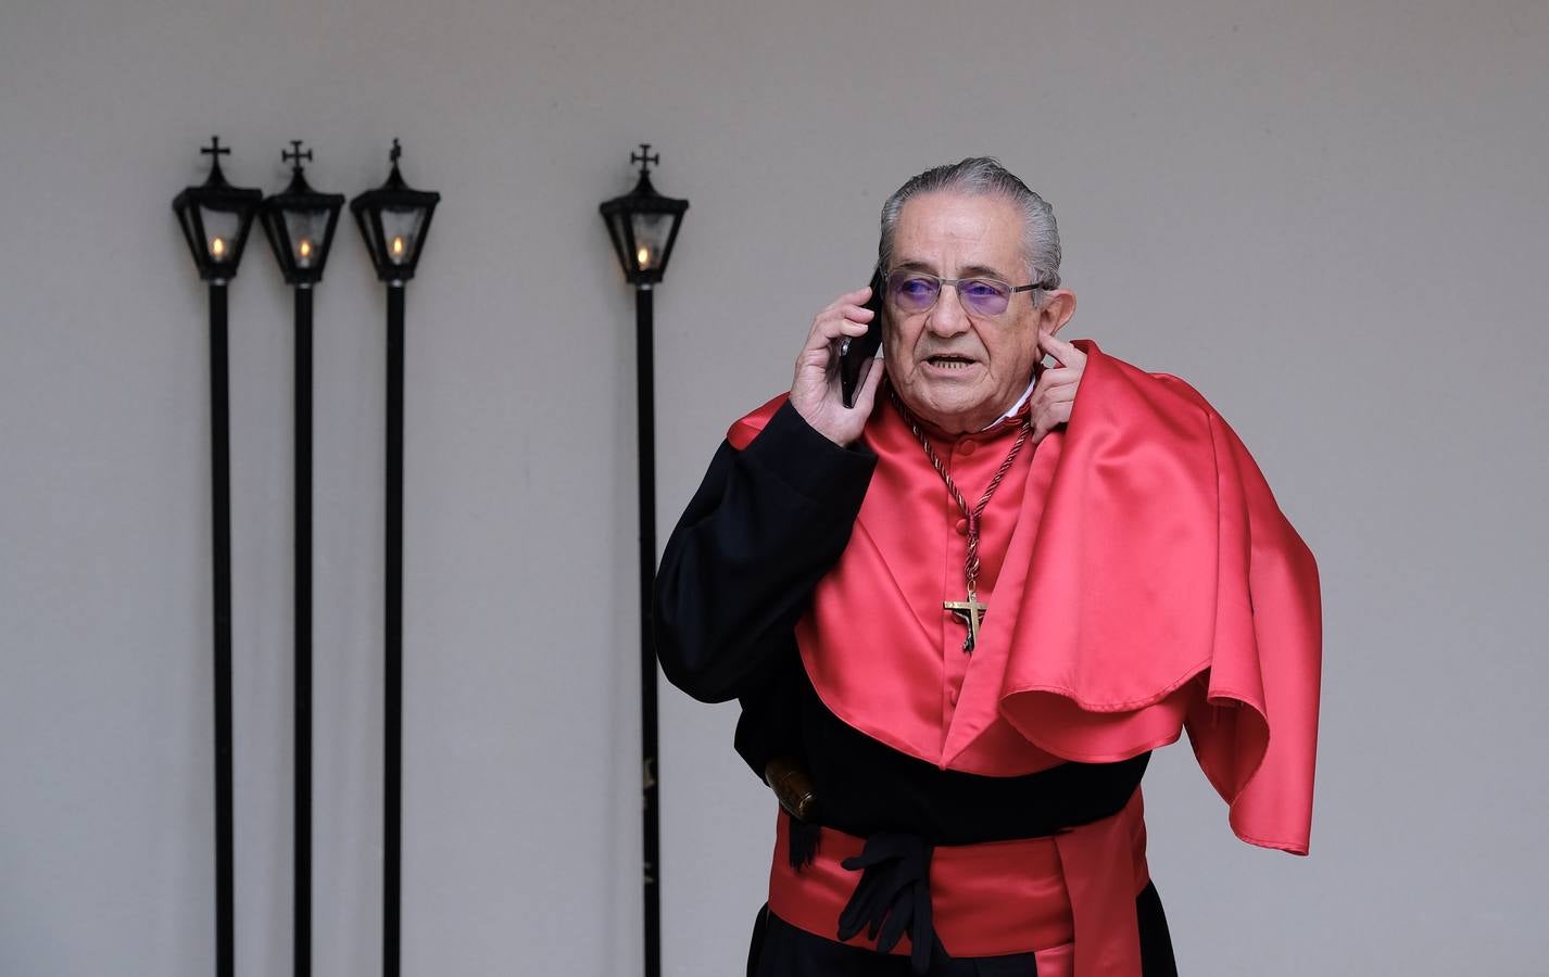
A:
[[[307,184],[301,139],[291,139],[282,163],[291,164],[283,192],[263,201],[259,217],[274,260],[296,293],[296,785],[294,785],[294,977],[311,974],[311,288],[333,245],[342,194],[319,194]]]

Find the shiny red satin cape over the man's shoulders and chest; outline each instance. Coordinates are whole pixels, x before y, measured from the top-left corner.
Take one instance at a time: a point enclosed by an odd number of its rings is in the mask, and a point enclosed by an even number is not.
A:
[[[1233,831],[1306,855],[1321,660],[1312,553],[1204,396],[1090,339],[1075,345],[1087,361],[1070,421],[1024,449],[984,516],[990,610],[971,656],[942,610],[963,591],[960,512],[877,398],[861,438],[877,469],[796,626],[813,687],[855,729],[985,776],[1123,760],[1187,728]],[[784,399],[733,424],[731,444],[750,444]],[[1013,432],[934,441],[970,505]]]

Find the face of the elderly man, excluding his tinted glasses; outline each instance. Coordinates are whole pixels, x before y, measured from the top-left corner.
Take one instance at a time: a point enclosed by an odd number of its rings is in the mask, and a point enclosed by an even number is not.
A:
[[[1022,215],[1001,197],[911,197],[894,231],[892,268],[884,271],[900,268],[1025,285]],[[1035,307],[1025,291],[1013,294],[999,316],[977,316],[963,308],[951,285],[942,285],[928,311],[905,313],[891,297],[884,297],[884,311],[888,381],[915,417],[945,434],[982,430],[1005,413],[1042,356],[1038,330],[1052,333],[1064,325],[1053,322],[1047,303]]]

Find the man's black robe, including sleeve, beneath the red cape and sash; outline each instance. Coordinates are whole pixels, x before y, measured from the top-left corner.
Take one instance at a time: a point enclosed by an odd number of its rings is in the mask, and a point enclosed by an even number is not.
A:
[[[652,608],[661,667],[702,701],[737,698],[736,749],[761,779],[776,756],[812,774],[815,821],[857,836],[974,844],[1053,835],[1118,811],[1149,754],[1019,777],[939,770],[858,732],[818,698],[793,627],[844,551],[875,457],[813,430],[785,404],[744,449],[722,443],[668,540]],[[1145,977],[1176,974],[1156,887],[1137,896]],[[748,972],[906,974],[908,957],[824,940],[759,912]],[[1036,974],[1032,954],[937,960],[932,974]]]

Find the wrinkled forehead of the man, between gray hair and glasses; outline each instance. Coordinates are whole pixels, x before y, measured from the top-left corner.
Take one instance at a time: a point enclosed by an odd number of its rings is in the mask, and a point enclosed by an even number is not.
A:
[[[940,190],[911,197],[898,211],[892,265],[943,277],[1011,280],[1025,266],[1022,215],[999,195]]]

